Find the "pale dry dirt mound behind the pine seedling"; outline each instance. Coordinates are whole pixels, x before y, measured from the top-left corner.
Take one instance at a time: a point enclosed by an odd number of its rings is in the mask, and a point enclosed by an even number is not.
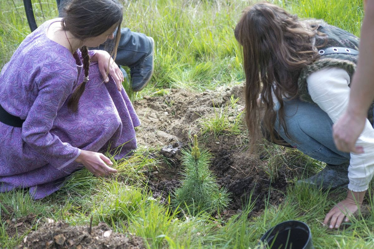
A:
[[[177,141],[187,142],[189,134],[200,133],[202,119],[228,103],[231,95],[241,98],[241,92],[242,86],[237,85],[203,93],[171,89],[163,96],[144,96],[134,103],[142,123],[137,130],[138,145],[157,148]],[[229,114],[237,113],[237,109]]]

